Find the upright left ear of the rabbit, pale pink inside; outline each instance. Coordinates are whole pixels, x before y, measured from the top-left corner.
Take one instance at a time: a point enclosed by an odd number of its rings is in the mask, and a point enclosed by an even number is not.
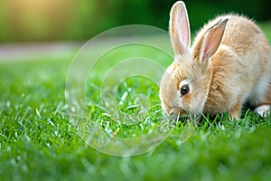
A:
[[[175,54],[183,55],[190,47],[190,27],[186,7],[182,1],[176,2],[171,10],[169,24],[171,41]]]

